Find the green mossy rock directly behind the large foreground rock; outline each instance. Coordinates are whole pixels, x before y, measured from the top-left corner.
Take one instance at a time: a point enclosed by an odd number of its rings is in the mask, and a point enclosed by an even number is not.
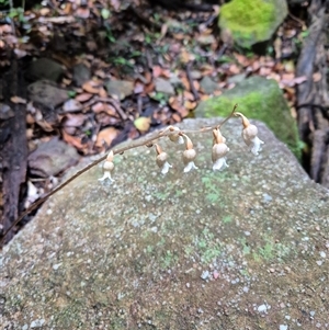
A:
[[[195,110],[196,117],[228,115],[238,103],[238,111],[249,118],[264,122],[300,159],[302,143],[295,120],[275,80],[251,77],[238,83],[220,96],[203,101]]]

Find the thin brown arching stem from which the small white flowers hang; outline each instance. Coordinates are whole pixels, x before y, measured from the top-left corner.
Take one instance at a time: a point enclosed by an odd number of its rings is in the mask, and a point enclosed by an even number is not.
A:
[[[181,134],[196,134],[196,133],[205,133],[205,132],[212,132],[213,129],[217,129],[219,127],[222,127],[229,118],[231,118],[235,115],[236,109],[237,109],[238,104],[236,104],[231,111],[231,113],[223,121],[220,122],[218,125],[216,126],[208,126],[208,127],[204,127],[201,129],[196,129],[196,130],[181,130]],[[138,147],[143,147],[143,146],[149,146],[152,145],[152,143],[159,138],[162,137],[168,137],[170,135],[177,134],[177,130],[171,130],[172,126],[167,127],[166,129],[162,129],[158,133],[152,134],[150,137],[148,138],[144,138],[140,140],[137,140],[135,143],[129,144],[126,147],[123,148],[117,148],[115,150],[113,150],[113,155],[122,155],[127,150],[131,149],[135,149]],[[63,182],[61,184],[59,184],[57,187],[55,187],[52,192],[49,192],[48,194],[46,194],[44,197],[39,198],[38,201],[36,201],[34,204],[32,204],[26,210],[24,210],[20,217],[18,219],[15,219],[12,225],[7,229],[7,231],[4,231],[1,240],[0,240],[0,247],[2,247],[3,242],[4,242],[4,238],[8,235],[8,232],[10,232],[10,230],[16,226],[27,214],[30,214],[32,210],[34,210],[37,206],[39,206],[41,204],[43,204],[44,202],[46,202],[50,196],[53,196],[55,193],[57,193],[58,191],[63,190],[66,185],[68,185],[70,182],[72,182],[75,179],[77,179],[78,177],[80,177],[81,174],[83,174],[84,172],[87,172],[88,170],[90,170],[91,168],[95,167],[97,164],[99,164],[101,161],[104,161],[106,159],[107,155],[102,156],[101,158],[99,158],[98,160],[91,162],[90,164],[88,164],[87,167],[84,167],[83,169],[79,170],[77,173],[75,173],[71,178],[69,178],[68,180],[66,180],[65,182]]]

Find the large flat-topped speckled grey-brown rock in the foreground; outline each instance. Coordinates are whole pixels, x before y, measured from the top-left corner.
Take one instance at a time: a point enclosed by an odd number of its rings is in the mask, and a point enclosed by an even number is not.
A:
[[[328,329],[329,192],[258,125],[258,157],[223,127],[223,172],[191,134],[198,170],[162,141],[167,177],[141,148],[57,193],[2,251],[3,329]]]

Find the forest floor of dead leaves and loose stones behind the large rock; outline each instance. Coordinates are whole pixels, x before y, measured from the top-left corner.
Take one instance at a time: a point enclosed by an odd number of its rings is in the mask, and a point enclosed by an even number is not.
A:
[[[99,0],[47,1],[0,13],[0,148],[7,148],[1,152],[0,238],[8,221],[52,191],[80,157],[193,117],[200,101],[250,76],[276,80],[298,120],[296,91],[309,79],[296,73],[311,32],[308,5],[290,9],[263,55],[220,39],[219,10],[173,11],[145,1]],[[327,65],[327,48],[325,56]],[[20,88],[7,86],[13,71]],[[309,75],[315,82],[324,78],[320,71]],[[13,122],[15,109],[24,114],[15,118],[21,126]],[[5,128],[10,121],[19,126]],[[307,125],[303,139],[310,147],[308,130],[317,127],[311,121]],[[14,134],[21,139],[5,147],[13,127],[21,127]],[[5,184],[5,163],[20,155],[20,178]],[[8,195],[14,209],[5,209]]]

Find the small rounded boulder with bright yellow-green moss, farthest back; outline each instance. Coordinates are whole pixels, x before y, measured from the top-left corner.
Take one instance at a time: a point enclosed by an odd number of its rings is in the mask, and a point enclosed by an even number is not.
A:
[[[222,7],[219,27],[239,46],[249,48],[270,39],[286,15],[285,0],[232,0]]]

